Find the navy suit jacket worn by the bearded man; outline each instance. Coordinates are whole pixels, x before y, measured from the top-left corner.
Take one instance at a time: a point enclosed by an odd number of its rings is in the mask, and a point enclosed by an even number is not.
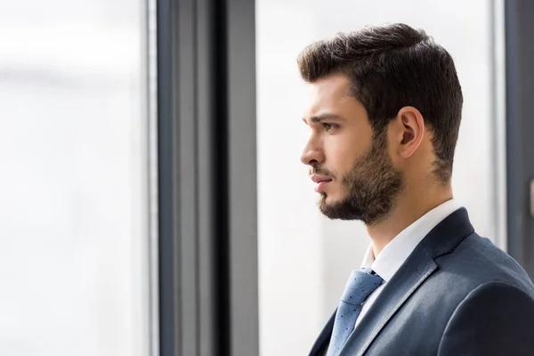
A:
[[[312,348],[326,355],[336,312]],[[534,285],[465,208],[417,245],[340,356],[534,355]]]

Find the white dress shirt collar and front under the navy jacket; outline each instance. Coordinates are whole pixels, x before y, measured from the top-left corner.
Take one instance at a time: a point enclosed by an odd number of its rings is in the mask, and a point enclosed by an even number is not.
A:
[[[425,239],[425,236],[438,223],[441,223],[442,220],[457,211],[458,208],[460,206],[457,205],[454,199],[450,199],[440,206],[436,206],[421,216],[415,223],[412,223],[409,227],[401,231],[399,235],[384,247],[376,259],[375,255],[373,255],[373,249],[371,246],[368,247],[367,253],[363,258],[363,263],[361,263],[361,268],[371,268],[377,275],[384,279],[384,282],[363,303],[360,315],[356,320],[356,326],[358,326],[363,315],[368,312],[378,295],[380,295],[388,280],[392,279],[393,275],[401,268],[402,263],[411,255],[419,242]]]

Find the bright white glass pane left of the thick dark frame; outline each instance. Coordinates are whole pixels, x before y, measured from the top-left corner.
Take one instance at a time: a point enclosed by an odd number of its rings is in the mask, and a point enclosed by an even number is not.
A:
[[[149,353],[141,1],[0,0],[0,354]]]

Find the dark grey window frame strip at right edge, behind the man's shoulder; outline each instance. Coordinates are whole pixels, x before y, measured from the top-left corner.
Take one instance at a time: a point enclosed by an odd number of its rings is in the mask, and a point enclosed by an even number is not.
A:
[[[534,278],[534,2],[506,0],[506,190],[508,253]]]

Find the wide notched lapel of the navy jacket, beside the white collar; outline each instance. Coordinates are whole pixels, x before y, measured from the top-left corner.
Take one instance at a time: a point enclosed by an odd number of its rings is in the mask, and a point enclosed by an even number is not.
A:
[[[384,286],[382,293],[347,340],[340,355],[363,355],[402,304],[438,268],[434,259],[453,252],[473,231],[465,208],[450,214],[430,231]]]

